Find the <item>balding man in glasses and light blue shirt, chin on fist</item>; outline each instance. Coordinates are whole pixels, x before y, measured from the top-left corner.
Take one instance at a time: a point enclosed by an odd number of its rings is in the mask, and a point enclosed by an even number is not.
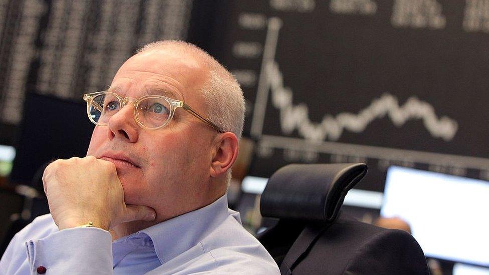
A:
[[[149,44],[84,99],[97,125],[87,157],[46,168],[51,214],[14,237],[1,272],[279,272],[227,208],[244,103],[212,57]]]

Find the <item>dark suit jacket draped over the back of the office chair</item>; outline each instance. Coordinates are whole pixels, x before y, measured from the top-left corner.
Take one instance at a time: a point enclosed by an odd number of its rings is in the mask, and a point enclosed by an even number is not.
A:
[[[421,247],[407,232],[343,215],[329,227],[310,228],[286,255],[282,273],[292,265],[292,274],[429,274]],[[306,247],[300,256],[291,252]]]

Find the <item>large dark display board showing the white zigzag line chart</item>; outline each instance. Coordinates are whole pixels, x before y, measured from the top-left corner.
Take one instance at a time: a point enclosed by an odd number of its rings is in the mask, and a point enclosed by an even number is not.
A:
[[[489,179],[489,1],[228,5],[220,60],[243,87],[251,173],[366,162]]]

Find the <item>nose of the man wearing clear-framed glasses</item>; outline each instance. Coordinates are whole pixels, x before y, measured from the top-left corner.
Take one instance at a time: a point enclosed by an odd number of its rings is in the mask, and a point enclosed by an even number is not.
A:
[[[134,120],[134,104],[128,103],[109,119],[109,138],[122,138],[136,142],[139,126]]]

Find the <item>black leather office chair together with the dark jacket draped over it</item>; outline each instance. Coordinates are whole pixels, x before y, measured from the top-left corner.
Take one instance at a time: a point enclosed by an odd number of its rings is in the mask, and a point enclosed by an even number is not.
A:
[[[340,215],[366,172],[363,163],[291,164],[270,177],[260,210],[279,221],[258,239],[282,274],[428,274],[409,233]]]

